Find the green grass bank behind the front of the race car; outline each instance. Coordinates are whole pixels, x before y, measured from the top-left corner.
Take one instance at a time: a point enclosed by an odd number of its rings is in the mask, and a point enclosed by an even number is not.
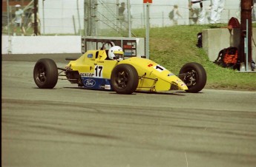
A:
[[[224,27],[225,25],[219,25]],[[254,24],[255,27],[255,24]],[[206,88],[256,91],[256,72],[237,72],[218,67],[209,61],[203,49],[197,48],[197,33],[203,29],[217,28],[211,25],[191,25],[151,28],[150,59],[178,74],[183,64],[198,62],[207,72]],[[134,30],[145,37],[145,30]]]

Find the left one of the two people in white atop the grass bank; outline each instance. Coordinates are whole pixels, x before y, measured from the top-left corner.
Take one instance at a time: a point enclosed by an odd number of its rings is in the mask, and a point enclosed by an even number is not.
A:
[[[191,2],[191,10],[194,16],[193,18],[197,18],[197,24],[205,24],[206,23],[206,10],[203,8],[202,0],[190,0]]]

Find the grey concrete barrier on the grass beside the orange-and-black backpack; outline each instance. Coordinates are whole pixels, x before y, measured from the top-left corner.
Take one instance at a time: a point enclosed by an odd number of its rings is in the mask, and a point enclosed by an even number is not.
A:
[[[226,47],[238,47],[240,44],[240,29],[227,28],[203,30],[203,50],[206,50],[209,60],[215,61],[220,50]],[[256,41],[256,28],[252,29],[252,36]],[[252,41],[252,59],[256,61],[256,47]]]

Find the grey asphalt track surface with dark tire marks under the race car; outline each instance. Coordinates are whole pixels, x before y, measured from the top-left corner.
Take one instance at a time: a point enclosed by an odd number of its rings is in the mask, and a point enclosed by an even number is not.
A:
[[[36,60],[65,57],[2,55],[2,166],[256,166],[256,92],[38,89]]]

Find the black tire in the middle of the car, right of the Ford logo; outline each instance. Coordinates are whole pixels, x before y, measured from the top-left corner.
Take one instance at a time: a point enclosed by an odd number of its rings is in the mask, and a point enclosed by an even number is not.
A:
[[[130,95],[138,83],[138,72],[130,64],[119,64],[111,72],[111,86],[116,93]]]

